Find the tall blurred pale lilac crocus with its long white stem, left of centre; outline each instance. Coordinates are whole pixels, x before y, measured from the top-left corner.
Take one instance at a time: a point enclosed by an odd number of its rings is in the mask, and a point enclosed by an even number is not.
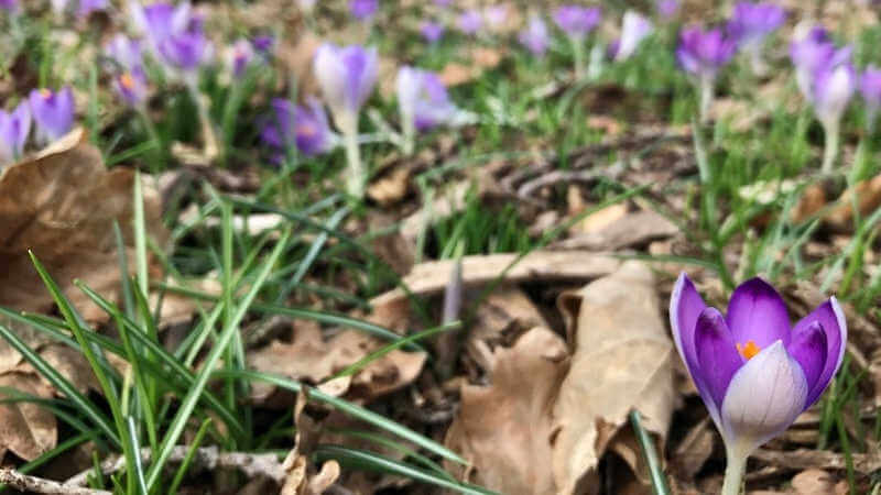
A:
[[[327,43],[318,47],[313,65],[334,123],[345,138],[349,194],[360,199],[367,172],[362,168],[358,148],[358,112],[377,82],[377,51],[358,45],[340,48]]]

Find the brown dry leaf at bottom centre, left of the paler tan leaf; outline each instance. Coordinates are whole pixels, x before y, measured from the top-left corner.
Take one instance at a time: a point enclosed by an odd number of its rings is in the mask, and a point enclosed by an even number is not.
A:
[[[566,343],[536,327],[493,355],[488,387],[464,385],[446,446],[472,465],[459,477],[505,495],[557,493],[551,465],[552,411],[568,369]]]

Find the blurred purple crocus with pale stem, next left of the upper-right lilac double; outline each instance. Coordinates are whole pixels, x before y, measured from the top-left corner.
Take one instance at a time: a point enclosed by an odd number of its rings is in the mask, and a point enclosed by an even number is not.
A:
[[[736,50],[736,43],[719,29],[704,31],[699,26],[692,26],[679,34],[676,61],[698,88],[701,122],[709,119],[716,76],[728,64]]]

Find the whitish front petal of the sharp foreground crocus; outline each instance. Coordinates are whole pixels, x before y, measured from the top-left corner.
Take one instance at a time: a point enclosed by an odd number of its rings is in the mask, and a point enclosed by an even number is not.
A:
[[[721,407],[726,447],[749,455],[782,433],[804,410],[807,382],[802,366],[776,341],[735,373]]]

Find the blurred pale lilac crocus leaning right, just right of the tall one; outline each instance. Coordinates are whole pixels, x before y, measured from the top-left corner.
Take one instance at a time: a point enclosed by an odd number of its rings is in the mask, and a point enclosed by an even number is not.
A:
[[[456,106],[436,74],[413,67],[401,67],[395,80],[404,152],[411,154],[417,131],[425,132],[456,116]]]

